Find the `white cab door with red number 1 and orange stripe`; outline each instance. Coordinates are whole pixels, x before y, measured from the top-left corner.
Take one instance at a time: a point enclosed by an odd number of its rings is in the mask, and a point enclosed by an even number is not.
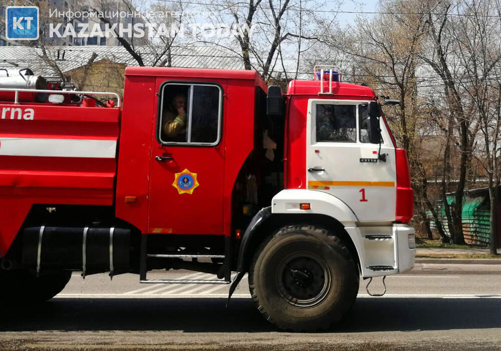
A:
[[[367,101],[312,99],[308,104],[308,189],[341,199],[361,222],[395,220],[395,149],[380,122],[386,161],[378,160],[379,145],[369,142]]]

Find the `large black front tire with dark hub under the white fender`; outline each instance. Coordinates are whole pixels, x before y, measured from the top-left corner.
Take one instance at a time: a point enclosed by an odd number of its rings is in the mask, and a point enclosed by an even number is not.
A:
[[[265,319],[280,329],[315,331],[345,317],[358,294],[359,271],[337,236],[295,225],[263,243],[248,280]]]

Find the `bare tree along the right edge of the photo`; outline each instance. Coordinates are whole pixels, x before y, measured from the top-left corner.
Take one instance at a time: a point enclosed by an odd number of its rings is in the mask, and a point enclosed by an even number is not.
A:
[[[461,2],[465,16],[453,28],[457,56],[462,67],[462,99],[474,106],[483,145],[479,163],[486,172],[490,199],[490,253],[497,254],[497,186],[499,185],[499,104],[501,104],[501,21],[489,14],[500,14],[498,0]],[[487,15],[487,16],[486,16]]]

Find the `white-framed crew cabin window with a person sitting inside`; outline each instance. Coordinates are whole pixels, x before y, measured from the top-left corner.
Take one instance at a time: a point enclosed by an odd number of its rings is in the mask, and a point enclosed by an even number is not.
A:
[[[219,141],[219,86],[167,83],[161,89],[159,139],[162,143],[215,145]]]

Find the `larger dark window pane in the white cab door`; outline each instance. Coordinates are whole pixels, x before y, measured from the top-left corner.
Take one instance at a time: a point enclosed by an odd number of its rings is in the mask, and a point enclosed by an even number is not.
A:
[[[357,141],[356,105],[317,104],[317,142]]]

